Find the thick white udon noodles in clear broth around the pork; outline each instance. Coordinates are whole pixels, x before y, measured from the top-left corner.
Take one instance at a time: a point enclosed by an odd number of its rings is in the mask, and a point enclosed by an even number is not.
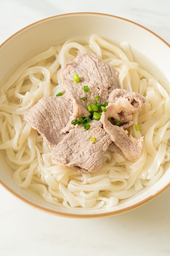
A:
[[[146,97],[146,106],[133,115],[140,126],[128,128],[135,138],[144,136],[141,157],[129,162],[106,151],[96,173],[78,173],[57,166],[41,135],[22,113],[42,97],[64,92],[60,73],[78,54],[93,53],[118,72],[122,89]],[[67,208],[114,207],[145,186],[157,182],[170,160],[170,98],[163,86],[133,59],[128,43],[113,44],[98,35],[72,38],[52,46],[24,63],[0,89],[0,149],[13,170],[13,180],[48,203]]]

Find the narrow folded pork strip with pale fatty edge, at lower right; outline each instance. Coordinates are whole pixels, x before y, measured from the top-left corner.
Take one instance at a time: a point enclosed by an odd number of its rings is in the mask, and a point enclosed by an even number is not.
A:
[[[111,124],[108,117],[112,116],[114,112],[114,105],[109,104],[106,112],[102,112],[100,121],[103,124],[103,128],[110,136],[111,141],[121,150],[122,154],[126,159],[131,162],[135,162],[142,153],[142,141],[143,137],[140,139],[135,139],[133,136],[128,136],[127,131],[123,129],[122,126],[117,126]]]

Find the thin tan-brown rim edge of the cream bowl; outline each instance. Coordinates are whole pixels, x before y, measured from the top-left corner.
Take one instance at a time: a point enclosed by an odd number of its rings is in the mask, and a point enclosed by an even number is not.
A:
[[[111,17],[111,18],[116,18],[118,20],[124,20],[126,22],[130,22],[135,26],[138,26],[146,31],[148,31],[149,33],[153,34],[154,36],[156,36],[159,40],[161,40],[164,44],[166,44],[169,48],[170,45],[163,39],[161,38],[159,35],[157,35],[155,32],[151,31],[150,29],[144,27],[143,25],[140,25],[137,22],[134,22],[132,20],[123,18],[123,17],[119,17],[119,16],[114,16],[111,14],[107,14],[107,13],[96,13],[96,12],[73,12],[73,13],[63,13],[63,14],[59,14],[59,15],[55,15],[55,16],[51,16],[51,17],[47,17],[41,20],[38,20],[36,22],[31,23],[30,25],[27,25],[26,27],[23,27],[22,29],[18,30],[17,32],[15,32],[14,34],[12,34],[9,38],[7,38],[1,45],[0,48],[5,45],[9,40],[11,40],[11,38],[13,38],[14,36],[16,36],[17,34],[20,34],[22,31],[26,30],[27,28],[32,27],[33,25],[39,24],[41,22],[44,22],[46,20],[51,20],[51,19],[55,19],[55,18],[59,18],[59,17],[65,17],[65,16],[72,16],[72,15],[92,15],[92,16],[107,16],[107,17]],[[163,191],[165,191],[169,186],[170,186],[170,182],[168,184],[166,184],[166,186],[164,186],[163,188],[157,190],[154,194],[147,196],[146,198],[144,198],[143,200],[124,207],[123,209],[118,209],[116,211],[105,211],[104,213],[66,213],[66,212],[62,212],[62,211],[58,211],[58,210],[54,210],[54,209],[48,209],[46,207],[40,206],[34,202],[29,201],[28,199],[22,197],[22,195],[17,194],[15,191],[13,191],[9,186],[7,186],[7,184],[5,184],[1,179],[0,179],[0,184],[7,189],[7,191],[9,191],[11,194],[13,194],[16,198],[22,200],[23,202],[31,205],[32,207],[35,207],[41,211],[45,211],[47,213],[52,213],[54,215],[57,216],[62,216],[62,217],[70,217],[70,218],[97,218],[97,217],[106,217],[106,216],[113,216],[113,215],[117,215],[120,213],[125,213],[127,211],[133,210],[139,206],[142,206],[143,204],[145,204],[146,202],[149,202],[150,200],[152,200],[153,198],[155,198],[157,195],[161,194]]]

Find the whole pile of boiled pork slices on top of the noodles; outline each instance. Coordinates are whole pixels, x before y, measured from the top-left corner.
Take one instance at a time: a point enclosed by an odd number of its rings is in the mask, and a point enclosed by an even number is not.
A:
[[[73,79],[75,73],[80,79],[78,83]],[[65,94],[42,98],[23,113],[25,121],[52,149],[53,162],[78,172],[96,172],[102,166],[102,155],[106,150],[136,161],[142,153],[143,137],[128,136],[124,128],[133,125],[133,113],[142,110],[146,99],[120,89],[117,73],[93,54],[79,55],[65,65],[61,75]],[[84,86],[88,86],[87,92],[84,92]],[[98,102],[101,104],[109,102],[100,121],[90,121],[89,130],[83,125],[72,125],[72,120],[90,115],[87,106],[96,103],[96,96],[100,97]],[[81,99],[83,97],[85,100]],[[115,120],[120,121],[120,127],[114,125]]]

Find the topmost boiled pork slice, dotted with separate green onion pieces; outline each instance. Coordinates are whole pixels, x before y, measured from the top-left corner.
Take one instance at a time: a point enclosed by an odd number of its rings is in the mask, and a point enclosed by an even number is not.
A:
[[[79,83],[74,82],[75,73],[80,78]],[[65,91],[85,108],[90,103],[96,103],[96,96],[100,96],[100,103],[105,103],[111,91],[120,88],[117,72],[93,54],[77,56],[72,63],[65,65],[61,76]],[[84,92],[84,86],[88,86],[88,92]],[[83,101],[83,97],[87,100]]]

